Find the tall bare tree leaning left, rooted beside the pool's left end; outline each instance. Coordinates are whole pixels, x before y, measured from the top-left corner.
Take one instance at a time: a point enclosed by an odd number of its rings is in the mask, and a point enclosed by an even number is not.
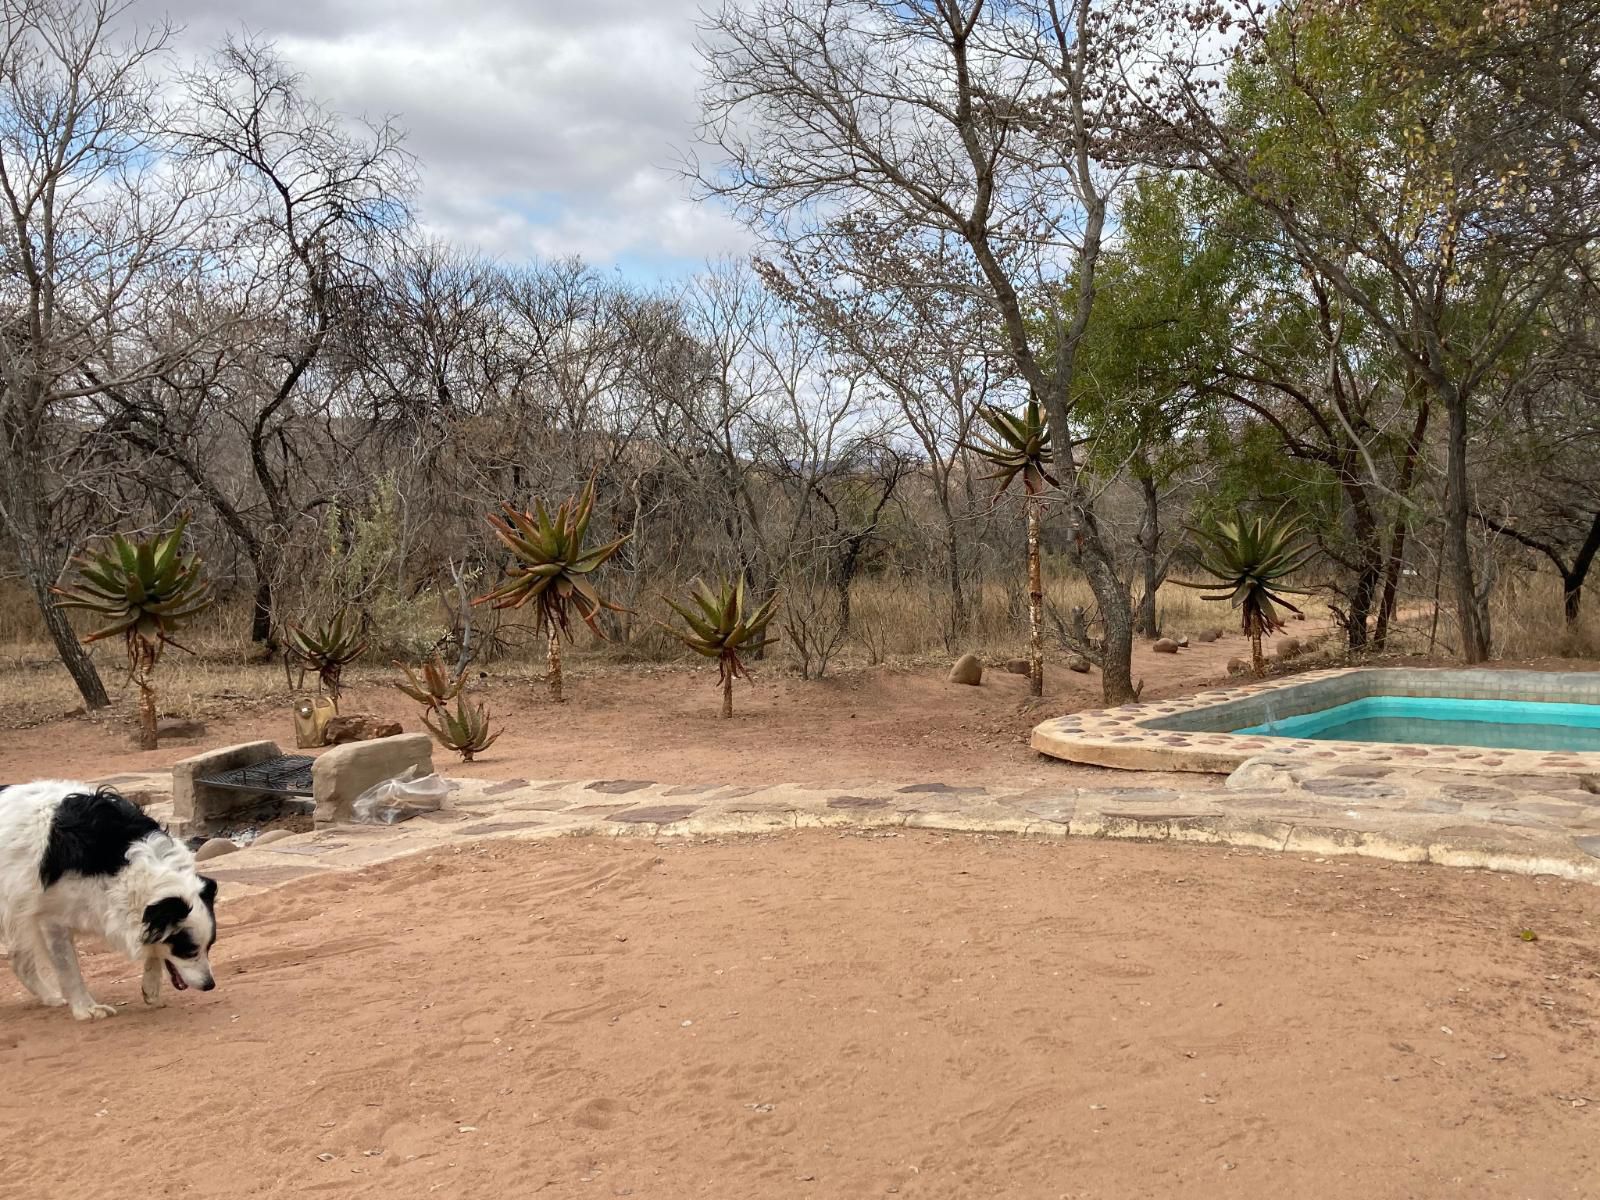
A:
[[[894,235],[938,230],[965,246],[1054,430],[1066,541],[1099,603],[1106,699],[1122,702],[1131,606],[1070,414],[1118,182],[1101,157],[1118,104],[1104,69],[1114,13],[1093,0],[728,5],[704,38],[704,134],[718,162],[696,173],[784,245],[827,238],[840,213],[866,210]],[[1077,285],[1070,310],[1046,302],[1064,277]]]

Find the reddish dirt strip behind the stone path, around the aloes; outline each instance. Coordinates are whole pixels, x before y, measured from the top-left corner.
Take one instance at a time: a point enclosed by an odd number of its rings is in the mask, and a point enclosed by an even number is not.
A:
[[[1298,626],[1317,635],[1317,622]],[[1168,696],[1227,678],[1227,661],[1248,656],[1234,634],[1179,654],[1134,651],[1134,678],[1144,698]],[[170,656],[174,670],[184,669]],[[165,664],[163,664],[165,666]],[[947,664],[946,664],[947,666]],[[1034,725],[1062,712],[1101,704],[1099,675],[1075,675],[1059,664],[1046,672],[1046,694],[1034,701],[1027,678],[990,669],[982,686],[947,683],[946,666],[845,670],[824,680],[800,680],[776,667],[757,667],[741,682],[734,718],[722,720],[715,667],[618,667],[579,661],[570,667],[568,702],[554,706],[531,677],[490,675],[477,683],[501,739],[472,765],[435,754],[456,776],[493,779],[634,778],[677,784],[854,784],[874,779],[947,782],[1064,782],[1074,768],[1027,747]],[[130,712],[110,718],[48,720],[6,733],[0,744],[0,781],[40,774],[104,776],[158,770],[200,746],[270,738],[293,746],[290,696],[280,669],[261,667],[259,701],[213,685],[195,686],[174,675],[168,702],[200,714],[203,738],[171,741],[160,750],[131,749]],[[374,712],[421,730],[416,706],[389,683],[394,672],[354,672],[341,709]],[[107,675],[110,678],[110,675]],[[0,706],[3,707],[3,706]],[[1093,778],[1128,773],[1083,768]]]

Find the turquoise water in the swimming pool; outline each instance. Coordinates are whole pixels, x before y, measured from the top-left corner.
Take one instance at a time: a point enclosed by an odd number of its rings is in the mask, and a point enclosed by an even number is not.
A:
[[[1600,704],[1368,696],[1234,733],[1498,750],[1600,750]]]

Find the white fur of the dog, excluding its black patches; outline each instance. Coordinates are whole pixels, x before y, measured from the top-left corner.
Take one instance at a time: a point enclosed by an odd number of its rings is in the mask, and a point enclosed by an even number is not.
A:
[[[40,864],[50,843],[51,821],[61,802],[93,792],[83,782],[46,779],[0,790],[0,938],[11,970],[38,1000],[69,1005],[80,1021],[114,1016],[115,1008],[90,995],[78,970],[74,936],[104,938],[130,960],[142,963],[142,994],[149,1005],[162,1003],[162,971],[187,987],[214,987],[208,949],[216,936],[214,917],[202,901],[205,880],[194,854],[165,832],[154,832],[128,846],[126,866],[114,875],[62,875],[48,888]],[[166,898],[189,904],[182,928],[198,947],[198,957],[179,958],[165,942],[147,944],[144,910]],[[54,982],[42,970],[50,966]]]

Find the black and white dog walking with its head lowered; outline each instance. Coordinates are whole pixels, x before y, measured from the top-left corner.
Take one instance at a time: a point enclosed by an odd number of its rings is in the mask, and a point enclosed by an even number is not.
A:
[[[0,938],[11,970],[78,1021],[114,1016],[90,995],[75,934],[96,934],[144,965],[144,1002],[162,971],[179,992],[216,987],[216,880],[194,854],[109,787],[46,779],[0,790]],[[54,982],[45,973],[51,968]]]

